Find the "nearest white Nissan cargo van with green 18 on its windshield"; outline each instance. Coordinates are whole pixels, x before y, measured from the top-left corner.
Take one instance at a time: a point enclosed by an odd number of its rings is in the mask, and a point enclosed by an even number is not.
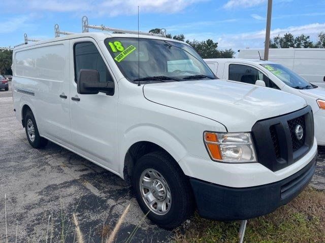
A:
[[[268,214],[315,171],[304,99],[216,80],[184,42],[71,34],[15,48],[13,73],[30,145],[50,140],[124,178],[162,227],[178,226],[195,207],[216,220]]]

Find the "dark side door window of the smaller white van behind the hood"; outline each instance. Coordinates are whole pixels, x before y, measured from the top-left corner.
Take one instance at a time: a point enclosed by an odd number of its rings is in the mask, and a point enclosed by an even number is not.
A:
[[[229,79],[254,85],[256,80],[263,80],[266,87],[278,89],[279,87],[272,82],[263,72],[247,65],[230,64]]]

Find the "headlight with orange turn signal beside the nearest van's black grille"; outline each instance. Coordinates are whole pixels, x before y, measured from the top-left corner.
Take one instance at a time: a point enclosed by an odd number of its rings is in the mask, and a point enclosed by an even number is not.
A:
[[[204,143],[212,160],[224,163],[256,162],[250,133],[204,133]]]

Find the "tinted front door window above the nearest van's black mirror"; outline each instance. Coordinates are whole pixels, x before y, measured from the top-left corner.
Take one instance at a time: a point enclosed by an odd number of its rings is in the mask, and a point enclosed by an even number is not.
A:
[[[96,46],[91,42],[77,43],[74,46],[75,55],[75,82],[80,69],[95,69],[100,74],[100,82],[113,82],[107,66],[97,50]]]

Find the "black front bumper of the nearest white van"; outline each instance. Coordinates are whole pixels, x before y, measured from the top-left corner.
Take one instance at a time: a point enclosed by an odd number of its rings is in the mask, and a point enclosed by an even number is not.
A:
[[[245,220],[275,211],[295,198],[311,181],[317,154],[297,173],[274,183],[234,188],[191,178],[199,214],[204,218]]]

